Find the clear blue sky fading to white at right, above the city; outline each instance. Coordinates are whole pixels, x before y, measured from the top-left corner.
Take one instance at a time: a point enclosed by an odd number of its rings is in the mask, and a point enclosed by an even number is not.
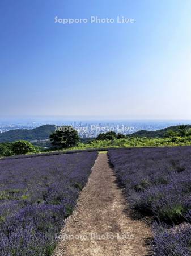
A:
[[[190,13],[190,0],[1,0],[0,117],[191,119]]]

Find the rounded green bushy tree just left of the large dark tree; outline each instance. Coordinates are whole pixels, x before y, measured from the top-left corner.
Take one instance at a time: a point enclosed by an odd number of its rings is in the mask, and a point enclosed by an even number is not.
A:
[[[29,152],[36,152],[36,149],[31,142],[19,140],[12,143],[12,151],[15,155],[23,155]]]

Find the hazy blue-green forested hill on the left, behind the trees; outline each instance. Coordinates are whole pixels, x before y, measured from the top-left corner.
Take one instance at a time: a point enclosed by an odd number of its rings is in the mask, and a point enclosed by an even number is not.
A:
[[[16,129],[0,133],[0,142],[12,142],[19,139],[32,141],[34,139],[48,139],[49,135],[55,130],[55,125],[43,125],[35,129]]]

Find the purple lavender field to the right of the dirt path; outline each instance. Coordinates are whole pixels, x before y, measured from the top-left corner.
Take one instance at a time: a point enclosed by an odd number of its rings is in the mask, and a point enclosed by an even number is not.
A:
[[[110,150],[129,203],[151,216],[157,256],[191,255],[191,147]]]

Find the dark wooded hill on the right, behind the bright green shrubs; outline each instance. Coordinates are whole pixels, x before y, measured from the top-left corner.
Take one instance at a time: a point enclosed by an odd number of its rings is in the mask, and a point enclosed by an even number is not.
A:
[[[169,131],[173,131],[177,133],[176,135],[182,135],[182,131],[188,131],[191,129],[191,125],[176,125],[176,126],[169,126],[168,128],[164,128],[157,131],[146,131],[146,130],[140,130],[136,131],[133,134],[129,134],[130,137],[148,137],[148,138],[163,138],[165,137],[165,134],[167,134]]]

